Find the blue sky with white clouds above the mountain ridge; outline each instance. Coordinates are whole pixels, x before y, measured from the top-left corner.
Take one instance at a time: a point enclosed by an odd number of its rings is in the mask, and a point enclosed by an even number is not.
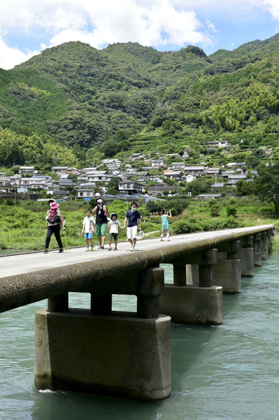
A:
[[[279,0],[9,0],[0,2],[0,67],[62,42],[139,42],[207,55],[279,32]]]

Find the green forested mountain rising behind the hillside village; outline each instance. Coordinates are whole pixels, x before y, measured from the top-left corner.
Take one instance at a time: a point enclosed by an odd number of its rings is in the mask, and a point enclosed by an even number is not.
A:
[[[159,52],[131,42],[46,49],[0,69],[0,164],[89,165],[185,146],[194,163],[217,139],[240,159],[263,145],[276,158],[278,70],[279,35],[209,57],[194,46]]]

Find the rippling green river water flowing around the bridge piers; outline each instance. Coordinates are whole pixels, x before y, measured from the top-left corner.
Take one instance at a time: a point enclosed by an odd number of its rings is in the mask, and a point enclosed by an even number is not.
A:
[[[171,282],[171,265],[162,265]],[[89,295],[70,294],[71,307]],[[223,324],[172,325],[172,394],[155,402],[38,391],[34,387],[36,302],[0,314],[1,420],[279,419],[279,255],[242,279],[240,295],[224,295]],[[115,296],[114,310],[134,310]]]

